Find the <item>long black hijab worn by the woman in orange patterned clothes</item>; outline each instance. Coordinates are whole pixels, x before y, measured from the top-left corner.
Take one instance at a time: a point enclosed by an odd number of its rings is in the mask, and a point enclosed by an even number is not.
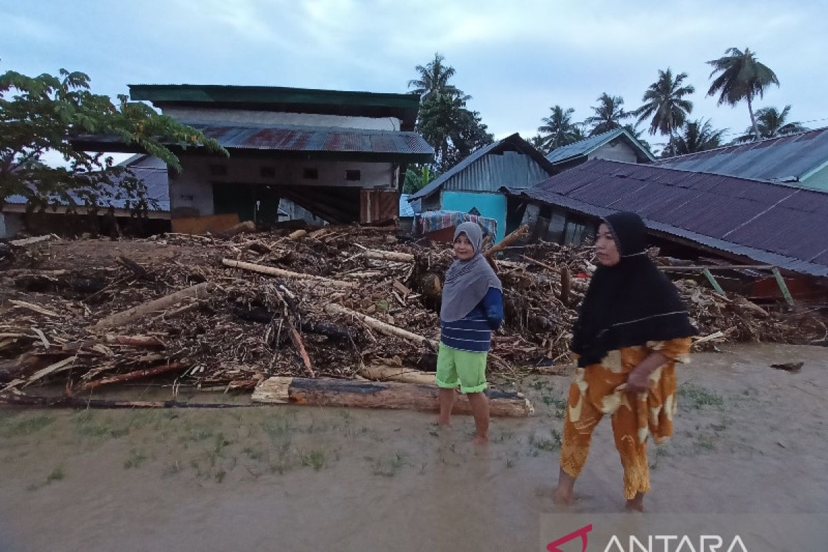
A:
[[[599,266],[575,322],[571,350],[578,366],[597,364],[622,347],[696,335],[672,281],[644,248],[647,227],[634,213],[604,218],[621,255],[615,266]]]

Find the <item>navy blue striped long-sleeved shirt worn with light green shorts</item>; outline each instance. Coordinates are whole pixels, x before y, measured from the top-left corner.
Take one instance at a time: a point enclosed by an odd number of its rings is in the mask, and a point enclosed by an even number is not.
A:
[[[484,300],[481,300],[465,318],[454,322],[445,322],[440,319],[440,341],[461,351],[486,353],[492,343],[492,328],[489,325],[487,312],[493,321],[500,324],[503,320],[503,295],[500,290],[489,288]]]

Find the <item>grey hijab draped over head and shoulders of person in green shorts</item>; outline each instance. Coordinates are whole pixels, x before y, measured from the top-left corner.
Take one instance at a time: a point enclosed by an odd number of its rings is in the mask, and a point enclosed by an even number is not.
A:
[[[445,322],[464,319],[483,300],[490,287],[503,289],[498,276],[481,254],[483,230],[480,225],[461,223],[455,230],[455,240],[460,234],[465,234],[471,242],[474,257],[468,261],[457,259],[445,271],[443,304],[440,308],[440,319]]]

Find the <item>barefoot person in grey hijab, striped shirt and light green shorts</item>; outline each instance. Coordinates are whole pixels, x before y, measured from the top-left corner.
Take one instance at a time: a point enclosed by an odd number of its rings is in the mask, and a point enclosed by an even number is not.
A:
[[[440,415],[437,423],[450,425],[455,389],[469,398],[474,415],[474,442],[489,441],[489,401],[484,395],[486,358],[492,332],[503,322],[503,286],[483,257],[483,231],[478,223],[462,223],[455,230],[455,262],[445,272],[440,308],[440,350],[437,386]]]

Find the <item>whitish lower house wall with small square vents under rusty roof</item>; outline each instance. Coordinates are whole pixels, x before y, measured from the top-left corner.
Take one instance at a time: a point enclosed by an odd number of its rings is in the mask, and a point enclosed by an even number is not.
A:
[[[210,165],[227,166],[227,175],[210,174]],[[284,158],[181,156],[183,172],[170,178],[170,209],[174,217],[190,216],[176,209],[195,209],[192,216],[213,214],[214,182],[261,185],[343,186],[350,188],[396,190],[397,170],[391,163],[360,163],[354,161],[301,161]],[[273,167],[276,175],[263,178],[262,166]],[[306,168],[315,168],[316,180],[302,178]],[[359,181],[345,180],[345,170],[361,171]]]

